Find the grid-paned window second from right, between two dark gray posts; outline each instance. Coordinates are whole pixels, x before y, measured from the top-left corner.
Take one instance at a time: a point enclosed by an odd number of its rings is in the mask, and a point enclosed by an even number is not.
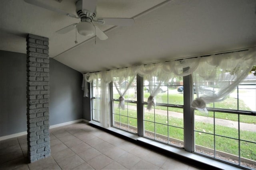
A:
[[[178,86],[183,85],[183,78],[172,78],[168,83],[162,84],[156,96],[156,106],[148,110],[149,82],[152,83],[152,90],[159,85],[157,77],[152,79],[153,81],[145,79],[143,82],[144,137],[184,147],[183,93],[177,90]]]

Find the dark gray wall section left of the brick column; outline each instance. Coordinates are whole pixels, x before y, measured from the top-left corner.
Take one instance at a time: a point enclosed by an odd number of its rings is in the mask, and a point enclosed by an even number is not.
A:
[[[27,131],[26,54],[0,51],[0,136]]]

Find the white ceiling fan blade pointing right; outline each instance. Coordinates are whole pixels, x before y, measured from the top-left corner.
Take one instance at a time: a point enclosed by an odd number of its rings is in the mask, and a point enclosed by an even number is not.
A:
[[[129,26],[134,24],[133,18],[98,18],[98,20],[103,20],[107,25]]]

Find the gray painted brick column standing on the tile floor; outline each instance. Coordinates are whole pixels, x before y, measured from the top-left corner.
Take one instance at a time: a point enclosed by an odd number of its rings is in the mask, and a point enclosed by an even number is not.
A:
[[[27,36],[27,127],[30,162],[50,156],[49,39]]]

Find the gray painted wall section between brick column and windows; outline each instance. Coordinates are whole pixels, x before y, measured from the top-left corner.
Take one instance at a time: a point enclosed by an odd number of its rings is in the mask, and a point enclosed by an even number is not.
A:
[[[82,74],[50,59],[50,125],[82,119]]]

